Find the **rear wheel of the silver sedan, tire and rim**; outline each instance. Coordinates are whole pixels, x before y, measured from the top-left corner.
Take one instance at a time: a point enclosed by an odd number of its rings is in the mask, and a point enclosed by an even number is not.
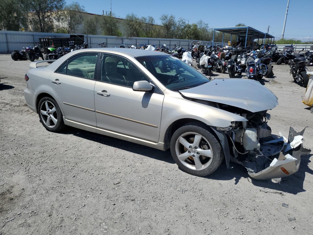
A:
[[[59,132],[65,127],[61,109],[50,97],[44,97],[39,101],[38,115],[40,122],[48,131]]]

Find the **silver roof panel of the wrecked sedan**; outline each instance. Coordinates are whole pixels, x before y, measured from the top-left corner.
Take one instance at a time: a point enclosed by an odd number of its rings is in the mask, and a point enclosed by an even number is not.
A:
[[[147,56],[147,55],[168,55],[164,52],[153,51],[153,50],[143,50],[143,49],[133,49],[133,48],[87,48],[80,49],[77,52],[104,52],[104,53],[113,53],[113,54],[128,54],[133,57],[137,56]]]

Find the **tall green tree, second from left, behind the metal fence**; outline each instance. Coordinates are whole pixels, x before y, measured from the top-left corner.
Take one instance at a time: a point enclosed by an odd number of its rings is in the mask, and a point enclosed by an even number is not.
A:
[[[40,32],[51,32],[57,12],[64,7],[65,0],[30,0],[30,11],[37,18]]]

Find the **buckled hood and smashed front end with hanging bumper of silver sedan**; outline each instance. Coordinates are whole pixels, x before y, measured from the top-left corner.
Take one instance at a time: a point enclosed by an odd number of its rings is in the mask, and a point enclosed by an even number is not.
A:
[[[183,97],[216,107],[244,118],[228,127],[212,127],[220,139],[226,164],[243,165],[258,180],[280,178],[299,170],[300,157],[310,153],[302,146],[305,129],[290,127],[288,138],[273,135],[268,126],[268,110],[278,105],[277,97],[258,81],[216,79],[202,86],[181,91]]]

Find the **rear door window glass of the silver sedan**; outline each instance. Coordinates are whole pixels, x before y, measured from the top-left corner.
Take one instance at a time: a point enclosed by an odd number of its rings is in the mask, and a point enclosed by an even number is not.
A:
[[[98,53],[76,55],[64,63],[57,72],[72,76],[94,79]],[[66,67],[67,65],[67,67]]]

